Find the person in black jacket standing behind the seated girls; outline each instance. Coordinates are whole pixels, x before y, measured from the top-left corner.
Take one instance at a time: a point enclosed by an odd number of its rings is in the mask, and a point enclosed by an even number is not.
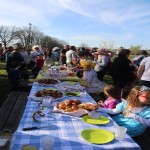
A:
[[[110,74],[114,84],[118,85],[121,89],[128,86],[128,84],[135,79],[135,68],[131,65],[131,61],[128,59],[129,55],[129,49],[121,49],[118,57],[114,59],[110,69]]]

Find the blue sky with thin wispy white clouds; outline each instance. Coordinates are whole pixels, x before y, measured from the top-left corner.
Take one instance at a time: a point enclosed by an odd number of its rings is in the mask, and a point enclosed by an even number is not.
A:
[[[0,25],[37,27],[70,45],[150,49],[150,0],[0,0]]]

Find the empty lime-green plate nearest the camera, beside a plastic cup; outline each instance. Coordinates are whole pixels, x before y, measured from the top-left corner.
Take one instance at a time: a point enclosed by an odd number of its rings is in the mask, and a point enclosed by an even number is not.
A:
[[[103,129],[87,129],[81,132],[81,136],[93,144],[105,144],[114,139],[114,134]]]

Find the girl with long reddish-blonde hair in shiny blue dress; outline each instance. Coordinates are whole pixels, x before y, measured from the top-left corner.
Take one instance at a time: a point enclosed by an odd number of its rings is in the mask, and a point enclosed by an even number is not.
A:
[[[99,110],[118,114],[112,117],[113,120],[119,126],[126,127],[127,133],[138,143],[137,139],[143,137],[146,127],[150,126],[150,88],[136,86],[130,91],[127,101],[119,103],[115,109],[100,108]]]

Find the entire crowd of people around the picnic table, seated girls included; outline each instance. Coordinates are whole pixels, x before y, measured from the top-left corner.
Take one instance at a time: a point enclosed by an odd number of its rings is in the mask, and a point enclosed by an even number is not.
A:
[[[27,69],[36,77],[46,61],[72,67],[86,82],[88,93],[103,89],[106,99],[99,100],[100,111],[111,114],[118,125],[125,126],[127,133],[139,143],[139,136],[142,137],[146,127],[150,126],[150,56],[141,51],[130,60],[130,53],[129,49],[121,48],[112,60],[112,53],[104,48],[92,51],[65,45],[63,49],[42,50],[35,45],[28,53],[25,47],[15,45],[3,52],[5,57],[1,58],[6,61],[12,86],[29,78]],[[104,84],[106,74],[112,77],[112,85]],[[128,93],[123,97],[125,91]]]

